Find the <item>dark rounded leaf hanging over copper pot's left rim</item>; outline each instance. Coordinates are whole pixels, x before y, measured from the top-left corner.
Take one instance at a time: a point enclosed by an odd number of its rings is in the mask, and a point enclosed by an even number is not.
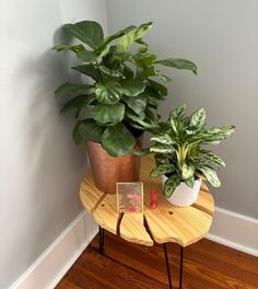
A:
[[[101,142],[103,131],[104,127],[97,125],[97,123],[92,118],[82,120],[78,125],[78,134],[84,140]]]

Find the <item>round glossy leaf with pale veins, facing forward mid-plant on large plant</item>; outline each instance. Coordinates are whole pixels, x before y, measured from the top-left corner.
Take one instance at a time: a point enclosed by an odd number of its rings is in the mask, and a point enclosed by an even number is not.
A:
[[[95,89],[96,99],[103,104],[116,104],[122,95],[122,88],[116,81],[99,82]]]

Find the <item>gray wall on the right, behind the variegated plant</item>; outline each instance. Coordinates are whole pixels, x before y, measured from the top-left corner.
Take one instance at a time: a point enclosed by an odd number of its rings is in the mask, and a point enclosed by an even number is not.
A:
[[[227,163],[216,206],[258,218],[258,2],[256,0],[107,0],[108,32],[153,21],[150,49],[198,65],[198,77],[167,70],[173,78],[162,106],[204,106],[208,125],[235,124],[236,134],[215,151]]]

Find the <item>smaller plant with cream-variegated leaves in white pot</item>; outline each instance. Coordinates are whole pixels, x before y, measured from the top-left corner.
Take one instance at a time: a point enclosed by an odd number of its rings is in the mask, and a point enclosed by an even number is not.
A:
[[[224,161],[204,144],[218,144],[234,131],[234,126],[206,129],[206,111],[200,108],[186,116],[186,105],[169,114],[166,123],[160,123],[151,140],[150,148],[155,154],[156,167],[151,176],[163,175],[163,193],[176,206],[190,206],[198,197],[201,180],[213,187],[220,187],[216,166],[225,166]]]

